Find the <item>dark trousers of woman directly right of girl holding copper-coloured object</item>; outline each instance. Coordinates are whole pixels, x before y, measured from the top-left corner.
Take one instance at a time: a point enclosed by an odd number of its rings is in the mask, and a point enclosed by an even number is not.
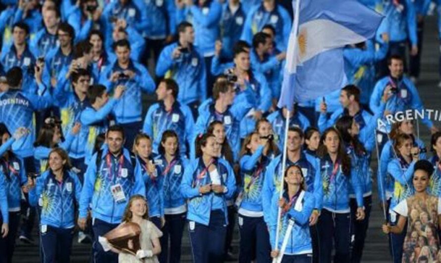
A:
[[[179,263],[181,260],[181,243],[182,233],[185,226],[185,214],[166,214],[165,225],[162,229],[163,236],[161,241],[161,254],[159,255],[159,262],[167,263],[168,258],[170,263]],[[170,238],[170,256],[168,257],[168,238]]]

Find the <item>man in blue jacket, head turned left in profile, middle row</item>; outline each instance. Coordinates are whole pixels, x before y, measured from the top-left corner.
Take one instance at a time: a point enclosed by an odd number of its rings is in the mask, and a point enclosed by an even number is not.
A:
[[[144,120],[143,132],[153,138],[153,152],[158,153],[163,133],[167,130],[176,132],[181,155],[187,153],[187,146],[192,140],[194,120],[190,108],[176,101],[179,87],[173,79],[163,79],[156,90],[159,103],[150,106]]]

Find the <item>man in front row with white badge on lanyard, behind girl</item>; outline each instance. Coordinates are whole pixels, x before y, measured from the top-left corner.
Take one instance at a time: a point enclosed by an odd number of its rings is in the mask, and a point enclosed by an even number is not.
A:
[[[141,173],[135,171],[136,160],[123,148],[124,130],[112,126],[106,134],[107,145],[95,153],[87,168],[79,202],[78,226],[86,227],[87,210],[92,209],[95,263],[117,263],[118,254],[105,252],[100,236],[117,227],[132,195],[145,196]],[[136,166],[138,167],[138,166]]]

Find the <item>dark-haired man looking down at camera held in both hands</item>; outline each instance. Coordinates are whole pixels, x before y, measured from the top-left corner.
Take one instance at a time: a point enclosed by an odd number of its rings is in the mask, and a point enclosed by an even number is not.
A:
[[[128,40],[119,40],[114,47],[117,60],[102,73],[100,83],[107,87],[108,92],[118,84],[126,87],[113,113],[116,123],[124,128],[124,146],[131,148],[136,134],[142,128],[141,92],[153,93],[155,82],[144,66],[130,59]]]

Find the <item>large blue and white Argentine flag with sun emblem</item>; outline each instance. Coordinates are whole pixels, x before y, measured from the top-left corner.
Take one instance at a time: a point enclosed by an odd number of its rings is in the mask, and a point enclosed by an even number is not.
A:
[[[343,47],[375,36],[383,16],[357,0],[293,0],[278,107],[292,109],[342,88]]]

